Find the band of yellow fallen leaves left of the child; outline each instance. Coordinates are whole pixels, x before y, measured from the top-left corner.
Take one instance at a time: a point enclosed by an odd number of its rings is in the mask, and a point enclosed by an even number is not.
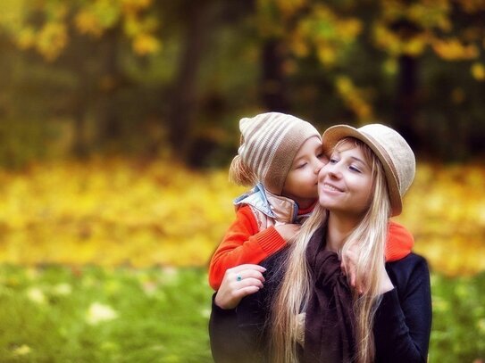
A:
[[[38,165],[0,175],[0,260],[203,265],[234,216],[227,171],[168,163]]]

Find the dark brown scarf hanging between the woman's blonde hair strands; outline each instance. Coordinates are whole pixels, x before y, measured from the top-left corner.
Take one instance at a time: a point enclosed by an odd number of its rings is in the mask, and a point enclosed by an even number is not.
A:
[[[318,229],[306,250],[313,278],[306,309],[303,361],[352,362],[355,354],[352,293],[339,256],[324,249],[326,229]]]

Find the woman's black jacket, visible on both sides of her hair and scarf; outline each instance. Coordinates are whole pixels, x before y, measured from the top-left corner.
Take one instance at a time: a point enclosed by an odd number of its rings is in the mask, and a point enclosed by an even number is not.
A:
[[[216,363],[267,362],[266,318],[272,294],[280,283],[281,259],[277,252],[262,265],[266,283],[244,298],[237,309],[213,304],[209,323],[211,349]],[[374,318],[376,362],[426,362],[431,334],[431,287],[426,260],[414,253],[386,263],[395,288],[384,293]]]

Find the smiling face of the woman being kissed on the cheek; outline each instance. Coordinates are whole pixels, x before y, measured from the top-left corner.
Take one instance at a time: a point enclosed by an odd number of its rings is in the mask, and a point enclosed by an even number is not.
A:
[[[330,211],[361,216],[369,208],[372,185],[372,166],[359,147],[347,142],[331,153],[320,170],[319,202]]]

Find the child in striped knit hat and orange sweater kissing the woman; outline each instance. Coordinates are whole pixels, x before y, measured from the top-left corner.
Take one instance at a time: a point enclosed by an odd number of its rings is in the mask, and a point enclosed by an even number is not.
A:
[[[239,196],[236,220],[213,253],[209,284],[218,290],[226,269],[258,264],[297,234],[317,202],[317,178],[328,160],[322,137],[310,123],[279,112],[239,121],[241,142],[230,179],[253,186]],[[386,260],[400,260],[414,245],[405,227],[389,223]]]

